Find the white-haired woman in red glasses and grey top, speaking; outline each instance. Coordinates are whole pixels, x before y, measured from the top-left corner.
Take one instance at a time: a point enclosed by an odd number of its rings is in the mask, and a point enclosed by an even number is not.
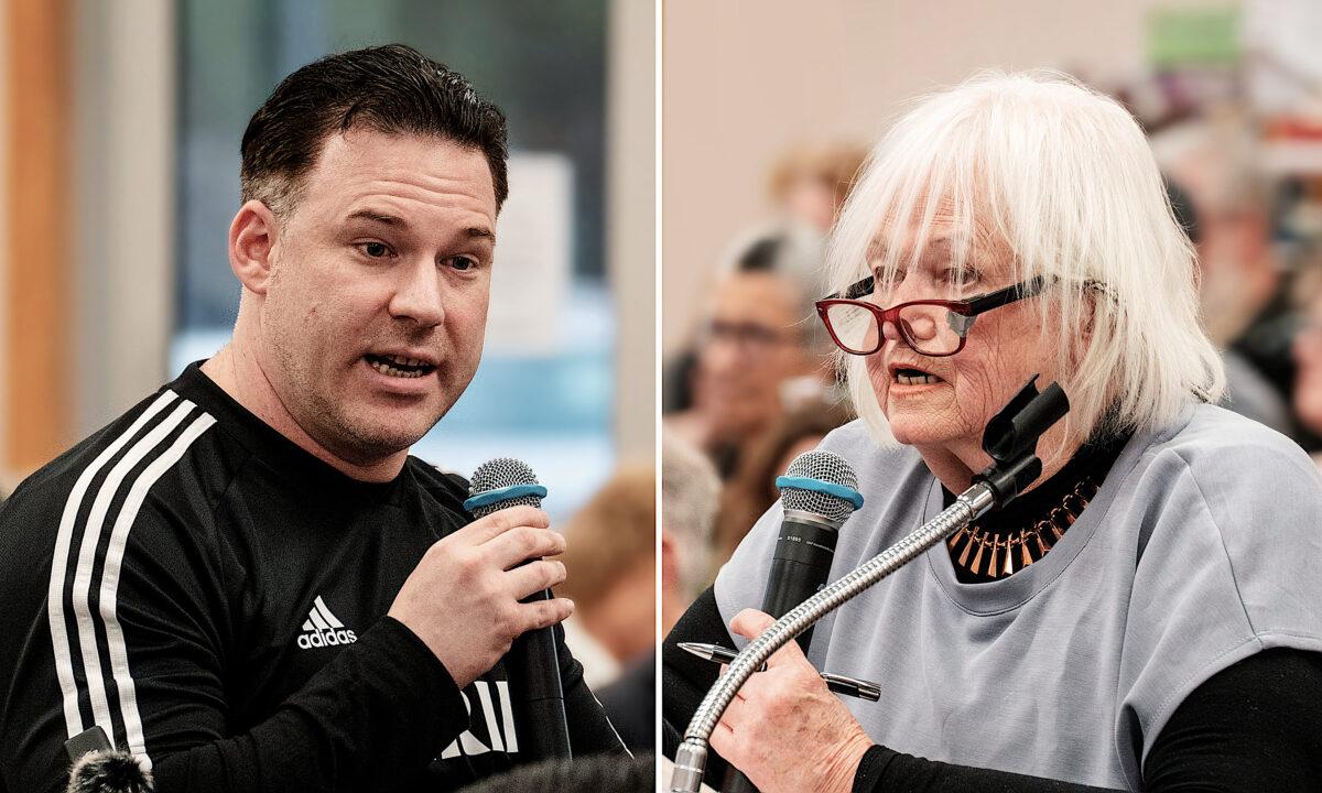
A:
[[[1030,377],[1072,407],[1034,488],[824,620],[806,658],[772,656],[713,748],[764,792],[1322,789],[1322,482],[1211,404],[1194,254],[1129,114],[1042,73],[923,100],[873,153],[832,266],[817,308],[861,419],[821,448],[866,498],[832,580],[969,486]],[[715,677],[674,645],[771,624],[751,607],[781,517],[668,637],[669,728]]]

